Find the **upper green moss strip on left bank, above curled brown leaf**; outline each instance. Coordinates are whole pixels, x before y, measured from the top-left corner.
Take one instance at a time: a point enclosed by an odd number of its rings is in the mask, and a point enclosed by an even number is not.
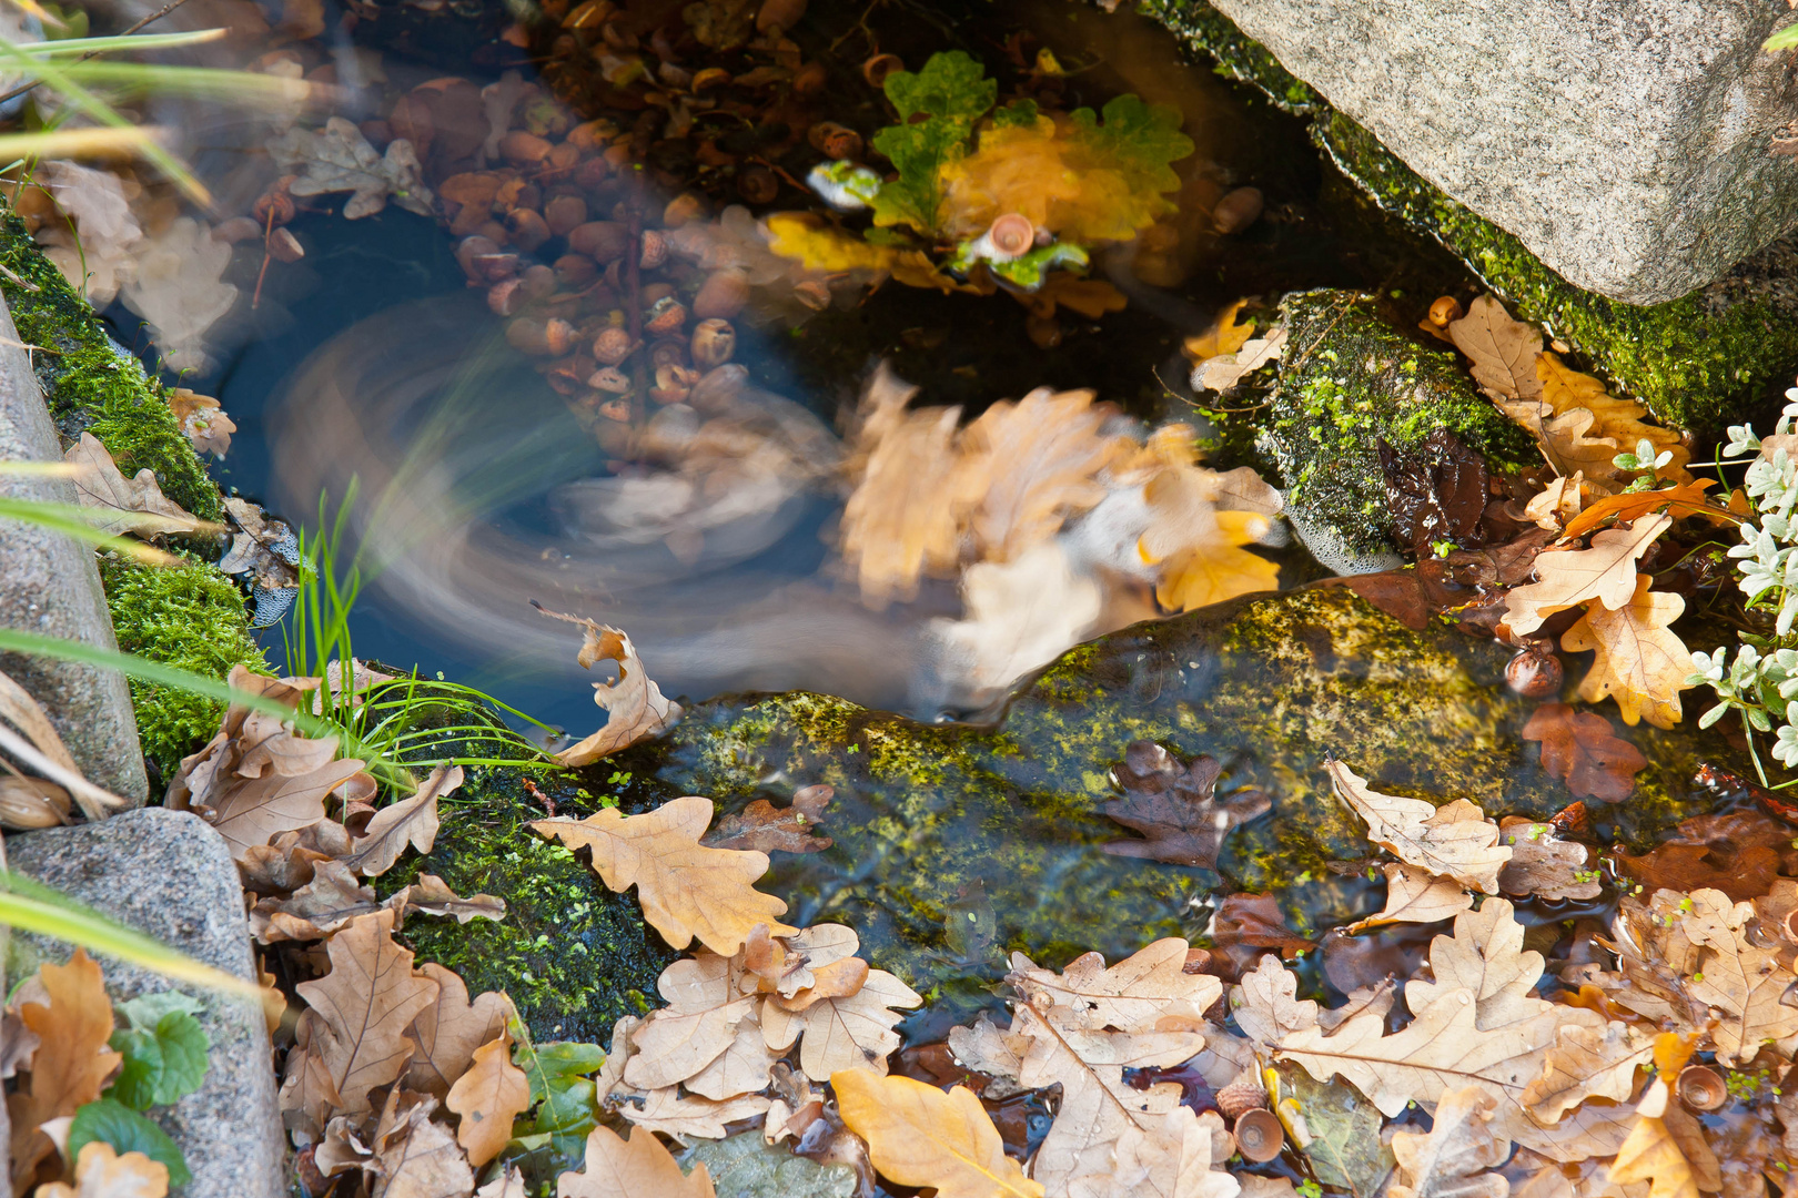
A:
[[[0,295],[20,339],[34,347],[38,384],[63,438],[93,433],[126,474],[149,467],[169,499],[201,519],[221,519],[218,487],[182,435],[162,384],[113,350],[93,309],[11,212],[0,214]]]

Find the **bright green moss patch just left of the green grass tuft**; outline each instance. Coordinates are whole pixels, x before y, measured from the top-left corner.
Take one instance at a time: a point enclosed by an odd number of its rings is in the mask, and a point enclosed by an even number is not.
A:
[[[119,648],[221,681],[237,665],[268,672],[250,636],[243,595],[212,566],[196,560],[144,566],[115,553],[102,553],[99,564]],[[137,679],[131,708],[144,756],[164,778],[218,731],[225,713],[216,699]]]

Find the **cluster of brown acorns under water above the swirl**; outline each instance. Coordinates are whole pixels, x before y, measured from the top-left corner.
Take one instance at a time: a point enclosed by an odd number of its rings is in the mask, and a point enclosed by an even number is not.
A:
[[[503,165],[451,174],[437,194],[462,271],[509,320],[507,341],[543,359],[548,384],[622,451],[642,401],[683,402],[730,361],[750,284],[672,251],[672,230],[705,219],[703,205],[678,196],[642,212],[645,189],[615,137],[604,120],[561,142],[514,129],[500,140]]]

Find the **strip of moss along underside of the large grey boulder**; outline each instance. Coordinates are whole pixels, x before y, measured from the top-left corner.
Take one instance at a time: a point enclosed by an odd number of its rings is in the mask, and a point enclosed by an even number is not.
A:
[[[1313,138],[1381,208],[1440,241],[1518,316],[1548,325],[1660,418],[1717,435],[1798,370],[1789,248],[1757,255],[1737,277],[1652,307],[1582,291],[1406,167],[1205,0],[1147,0],[1144,11],[1212,56],[1223,74],[1257,86],[1287,111],[1311,115]]]

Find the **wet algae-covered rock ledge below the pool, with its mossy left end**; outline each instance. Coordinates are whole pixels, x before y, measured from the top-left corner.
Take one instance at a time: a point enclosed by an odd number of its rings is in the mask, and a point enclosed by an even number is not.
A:
[[[1064,963],[1197,938],[1223,893],[1275,891],[1296,927],[1377,907],[1377,887],[1327,871],[1372,851],[1331,792],[1327,753],[1383,790],[1469,797],[1492,817],[1566,806],[1566,787],[1518,735],[1535,702],[1503,688],[1509,656],[1447,629],[1408,630],[1343,587],[1287,591],[1073,648],[992,727],[919,724],[813,693],[696,704],[660,740],[588,771],[586,797],[556,803],[563,814],[601,801],[647,810],[703,794],[741,810],[829,783],[820,835],[832,846],[775,853],[762,889],[791,903],[791,923],[854,925],[877,966],[928,997],[978,997],[1005,950]],[[1694,810],[1699,749],[1690,729],[1620,735],[1651,765],[1629,803],[1591,806],[1600,826],[1640,842]],[[1183,760],[1208,753],[1224,767],[1221,796],[1259,787],[1273,810],[1230,833],[1217,871],[1106,853],[1131,837],[1104,805],[1133,740]],[[653,1002],[671,954],[642,932],[635,900],[608,894],[523,826],[541,808],[520,781],[469,790],[473,805],[444,817],[423,868],[458,893],[500,894],[511,914],[408,921],[406,936],[471,990],[507,988],[545,1035],[602,1038],[606,1018]]]

